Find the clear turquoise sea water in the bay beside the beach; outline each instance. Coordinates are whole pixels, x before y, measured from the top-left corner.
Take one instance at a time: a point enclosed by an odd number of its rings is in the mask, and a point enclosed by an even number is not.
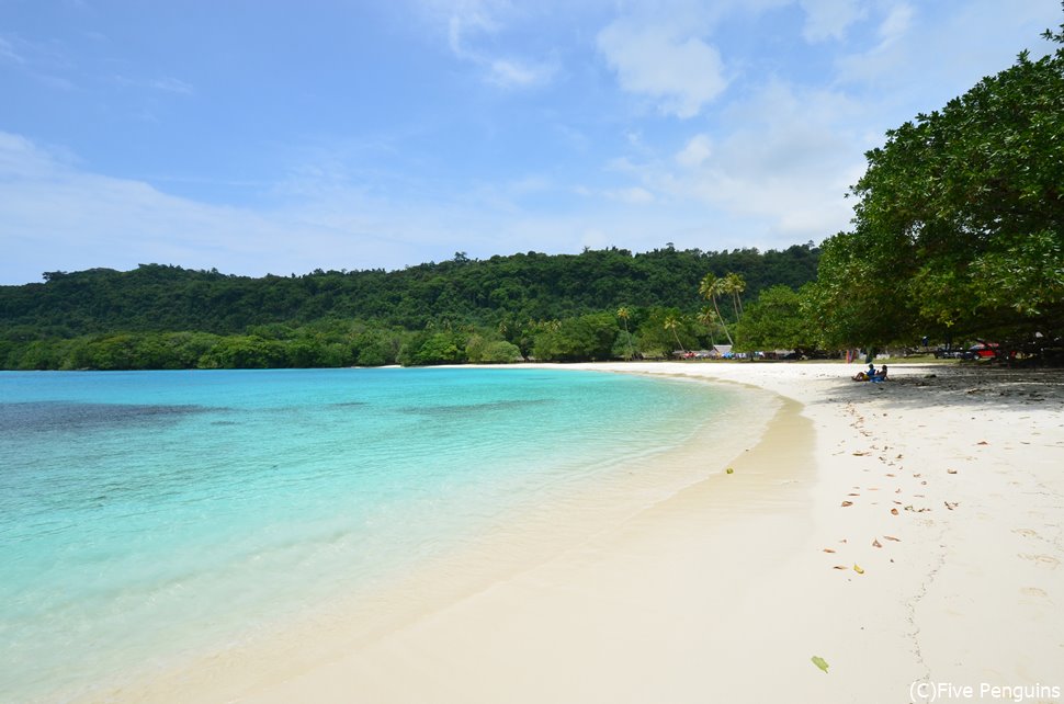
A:
[[[543,370],[0,373],[0,682],[55,701],[445,557],[735,397]]]

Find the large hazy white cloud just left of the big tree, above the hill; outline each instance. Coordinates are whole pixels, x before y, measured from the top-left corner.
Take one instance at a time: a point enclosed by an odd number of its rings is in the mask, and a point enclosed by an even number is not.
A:
[[[737,223],[761,242],[819,241],[851,216],[844,194],[869,145],[847,124],[861,110],[841,94],[772,82],[731,105],[712,143],[697,134],[669,160],[615,170],[670,207],[701,204],[705,217]]]

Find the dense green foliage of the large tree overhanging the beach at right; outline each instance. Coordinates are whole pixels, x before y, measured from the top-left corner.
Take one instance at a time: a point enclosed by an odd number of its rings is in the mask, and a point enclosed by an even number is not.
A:
[[[1048,34],[1057,43],[1062,35]],[[837,347],[1064,328],[1064,47],[887,133],[811,291]]]

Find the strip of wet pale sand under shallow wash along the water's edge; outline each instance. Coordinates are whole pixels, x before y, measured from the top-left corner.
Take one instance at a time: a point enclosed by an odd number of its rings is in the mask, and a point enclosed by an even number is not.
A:
[[[506,373],[498,366],[488,368]],[[737,396],[732,384],[681,377],[668,382],[687,386],[686,394],[705,393],[691,388],[693,385]],[[743,398],[750,394],[761,407],[776,408],[776,395],[749,387]],[[743,432],[723,436],[703,421],[693,435],[677,440],[678,445],[648,445],[646,451],[627,456],[620,464],[616,458],[610,461],[605,475],[568,485],[561,500],[522,502],[523,508],[508,509],[491,532],[397,579],[359,590],[351,598],[308,604],[294,618],[270,624],[246,639],[189,652],[171,663],[159,663],[151,671],[131,672],[121,682],[102,683],[103,686],[71,701],[242,701],[249,692],[312,671],[339,652],[363,648],[471,594],[547,563],[623,524],[648,506],[702,481],[708,474],[723,475],[732,455],[758,442],[765,422],[750,422]],[[709,464],[706,451],[712,451]]]

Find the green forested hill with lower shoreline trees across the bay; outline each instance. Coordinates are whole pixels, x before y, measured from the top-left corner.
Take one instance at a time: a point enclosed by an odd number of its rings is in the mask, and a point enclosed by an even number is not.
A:
[[[738,272],[747,294],[756,295],[767,286],[812,281],[817,257],[812,243],[763,253],[668,246],[639,254],[529,252],[485,261],[459,253],[395,272],[261,279],[159,264],[48,272],[43,284],[0,287],[0,366],[268,368],[664,357],[678,343],[708,345],[726,325],[718,318],[706,328],[695,318],[706,272],[721,281]],[[727,294],[733,313],[740,294]]]

